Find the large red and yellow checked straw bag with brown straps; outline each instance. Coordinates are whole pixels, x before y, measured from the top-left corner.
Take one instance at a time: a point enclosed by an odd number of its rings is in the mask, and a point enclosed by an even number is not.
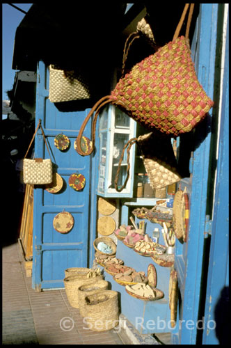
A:
[[[154,54],[134,65],[129,74],[121,78],[111,95],[102,97],[83,121],[77,137],[81,155],[90,155],[95,145],[95,126],[100,109],[113,104],[150,132],[179,136],[203,120],[214,102],[200,85],[189,48],[189,28],[193,14],[191,3],[186,35],[179,36],[189,3],[186,3],[173,41]],[[95,112],[92,126],[93,148],[81,152],[80,141],[86,123]]]

